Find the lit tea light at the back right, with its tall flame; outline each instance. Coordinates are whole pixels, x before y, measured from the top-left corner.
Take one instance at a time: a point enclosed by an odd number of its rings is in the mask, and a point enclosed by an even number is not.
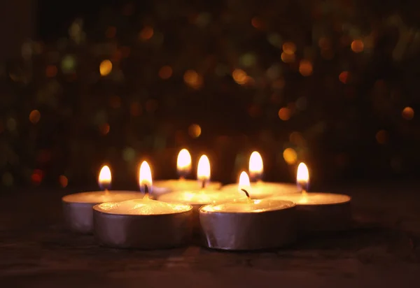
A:
[[[253,180],[251,198],[264,199],[282,194],[291,194],[300,192],[299,187],[295,184],[279,183],[279,182],[263,182],[262,173],[264,172],[264,165],[260,153],[254,151],[249,157],[249,175]],[[222,190],[235,190],[235,184],[225,185]]]

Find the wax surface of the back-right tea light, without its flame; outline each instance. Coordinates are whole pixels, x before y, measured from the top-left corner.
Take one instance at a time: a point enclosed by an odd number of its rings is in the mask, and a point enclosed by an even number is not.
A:
[[[225,185],[221,188],[221,190],[237,190],[237,184],[230,184]],[[251,183],[251,189],[249,189],[248,193],[251,198],[268,198],[276,195],[281,194],[292,194],[300,192],[300,189],[291,183],[276,183],[276,182],[253,182]]]

